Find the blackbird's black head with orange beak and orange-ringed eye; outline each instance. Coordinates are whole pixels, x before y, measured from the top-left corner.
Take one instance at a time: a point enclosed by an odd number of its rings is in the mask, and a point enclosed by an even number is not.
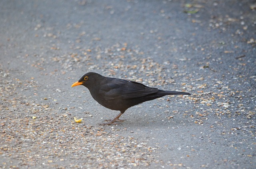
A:
[[[96,79],[99,79],[99,76],[101,77],[101,75],[94,72],[86,73],[79,79],[79,81],[75,82],[71,87],[83,85],[88,88],[91,85],[95,85]]]

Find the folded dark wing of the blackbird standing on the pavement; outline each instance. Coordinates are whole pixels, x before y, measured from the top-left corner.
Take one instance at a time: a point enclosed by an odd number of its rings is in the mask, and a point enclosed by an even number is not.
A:
[[[158,92],[157,88],[150,88],[141,83],[123,79],[114,79],[110,83],[102,85],[100,90],[104,92],[106,100],[137,98]]]

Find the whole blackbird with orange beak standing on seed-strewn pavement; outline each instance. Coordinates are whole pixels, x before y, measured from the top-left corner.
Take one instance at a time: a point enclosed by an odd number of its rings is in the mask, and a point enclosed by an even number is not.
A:
[[[153,100],[165,95],[190,95],[188,92],[160,90],[158,88],[145,86],[135,81],[104,77],[94,72],[86,73],[71,87],[78,85],[87,87],[94,100],[102,106],[111,110],[120,111],[120,114],[110,121],[108,125],[115,121],[123,121],[120,120],[119,117],[125,112],[125,110],[142,102]]]

